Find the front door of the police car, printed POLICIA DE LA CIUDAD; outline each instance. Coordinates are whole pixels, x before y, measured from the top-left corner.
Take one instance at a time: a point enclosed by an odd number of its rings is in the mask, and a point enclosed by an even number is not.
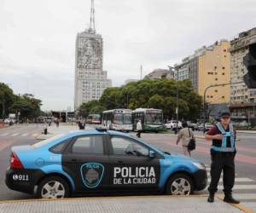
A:
[[[129,137],[113,135],[109,139],[112,188],[157,188],[160,181],[159,158],[149,158],[150,149]]]

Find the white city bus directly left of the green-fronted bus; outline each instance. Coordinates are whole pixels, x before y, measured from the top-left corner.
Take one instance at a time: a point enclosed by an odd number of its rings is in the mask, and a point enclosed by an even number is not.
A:
[[[102,125],[109,130],[132,131],[131,109],[113,109],[102,112]]]

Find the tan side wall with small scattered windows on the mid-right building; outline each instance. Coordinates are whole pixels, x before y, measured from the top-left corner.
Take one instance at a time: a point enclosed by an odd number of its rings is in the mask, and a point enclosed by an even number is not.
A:
[[[207,47],[198,56],[198,93],[204,95],[208,86],[230,83],[230,42],[222,40]],[[207,89],[208,104],[230,103],[230,85]]]

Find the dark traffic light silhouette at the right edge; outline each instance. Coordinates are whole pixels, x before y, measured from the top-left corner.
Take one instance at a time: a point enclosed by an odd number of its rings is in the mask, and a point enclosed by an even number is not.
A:
[[[256,39],[249,45],[249,52],[243,57],[243,63],[248,71],[243,76],[243,80],[248,89],[256,89]]]

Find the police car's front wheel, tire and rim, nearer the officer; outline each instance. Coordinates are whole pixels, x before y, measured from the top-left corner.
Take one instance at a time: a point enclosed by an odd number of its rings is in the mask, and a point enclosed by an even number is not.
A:
[[[185,174],[172,176],[166,184],[166,193],[168,194],[189,195],[193,193],[193,190],[193,181]]]

